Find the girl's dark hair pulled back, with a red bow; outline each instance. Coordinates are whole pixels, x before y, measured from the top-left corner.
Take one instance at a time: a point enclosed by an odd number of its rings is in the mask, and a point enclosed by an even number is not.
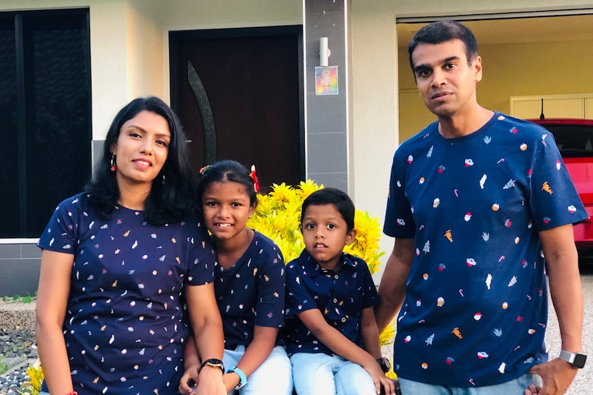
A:
[[[250,177],[251,172],[241,163],[232,160],[218,161],[207,166],[203,173],[197,183],[197,204],[200,211],[202,210],[202,198],[208,185],[224,181],[243,185],[245,193],[249,196],[249,204],[251,206],[257,204],[257,193],[253,187],[253,179]]]

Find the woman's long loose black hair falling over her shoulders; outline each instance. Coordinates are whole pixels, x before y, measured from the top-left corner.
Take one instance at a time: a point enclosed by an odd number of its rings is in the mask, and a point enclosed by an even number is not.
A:
[[[159,98],[150,96],[134,99],[118,112],[107,131],[103,157],[98,161],[94,177],[87,183],[85,192],[98,216],[104,220],[111,218],[120,198],[116,173],[109,170],[111,148],[118,141],[123,124],[141,111],[162,116],[171,133],[166,161],[152,181],[151,191],[144,201],[144,219],[155,226],[175,223],[195,208],[195,179],[191,174],[187,140],[180,121],[173,110]]]

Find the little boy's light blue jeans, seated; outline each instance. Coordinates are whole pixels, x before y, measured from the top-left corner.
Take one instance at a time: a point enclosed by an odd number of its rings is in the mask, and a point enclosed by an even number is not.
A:
[[[299,395],[376,395],[367,371],[338,355],[297,352],[290,362]]]

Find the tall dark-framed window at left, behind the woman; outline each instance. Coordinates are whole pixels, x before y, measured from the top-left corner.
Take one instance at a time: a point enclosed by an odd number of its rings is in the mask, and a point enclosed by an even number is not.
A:
[[[88,9],[0,13],[0,238],[39,237],[91,174]]]

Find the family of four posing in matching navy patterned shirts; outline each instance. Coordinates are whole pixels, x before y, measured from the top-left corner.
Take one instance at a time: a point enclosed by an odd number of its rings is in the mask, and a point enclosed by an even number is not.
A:
[[[409,55],[438,121],[394,156],[378,291],[343,253],[345,192],[305,199],[305,249],[285,264],[247,227],[246,167],[213,163],[196,184],[169,106],[121,109],[94,178],[39,239],[42,394],[395,394],[378,339],[398,311],[405,395],[565,392],[585,357],[571,226],[587,214],[554,139],[477,104],[464,25],[423,27]],[[546,273],[563,342],[548,362]]]

